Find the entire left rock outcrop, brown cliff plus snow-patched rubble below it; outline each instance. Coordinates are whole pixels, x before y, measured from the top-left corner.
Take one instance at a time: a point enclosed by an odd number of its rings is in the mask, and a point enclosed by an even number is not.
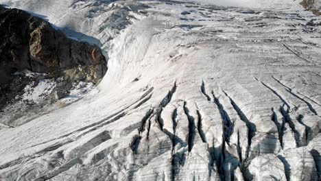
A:
[[[92,87],[107,71],[99,47],[67,38],[23,10],[0,5],[0,29],[0,123],[4,125],[20,125],[19,118],[36,115],[79,85]],[[38,93],[42,95],[35,100],[32,95]]]

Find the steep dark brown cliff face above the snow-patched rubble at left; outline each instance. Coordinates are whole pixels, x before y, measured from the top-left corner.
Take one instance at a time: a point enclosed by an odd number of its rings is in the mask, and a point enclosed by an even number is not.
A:
[[[90,74],[82,77],[92,82],[97,82],[107,70],[98,47],[71,40],[23,10],[0,7],[0,39],[0,84],[8,83],[12,73],[23,69],[64,73],[82,67]]]

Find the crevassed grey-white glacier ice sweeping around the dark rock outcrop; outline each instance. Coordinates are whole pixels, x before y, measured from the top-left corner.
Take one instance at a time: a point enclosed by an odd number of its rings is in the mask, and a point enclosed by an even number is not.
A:
[[[1,180],[320,178],[318,16],[274,3],[16,2],[110,60],[84,99],[0,130]]]

